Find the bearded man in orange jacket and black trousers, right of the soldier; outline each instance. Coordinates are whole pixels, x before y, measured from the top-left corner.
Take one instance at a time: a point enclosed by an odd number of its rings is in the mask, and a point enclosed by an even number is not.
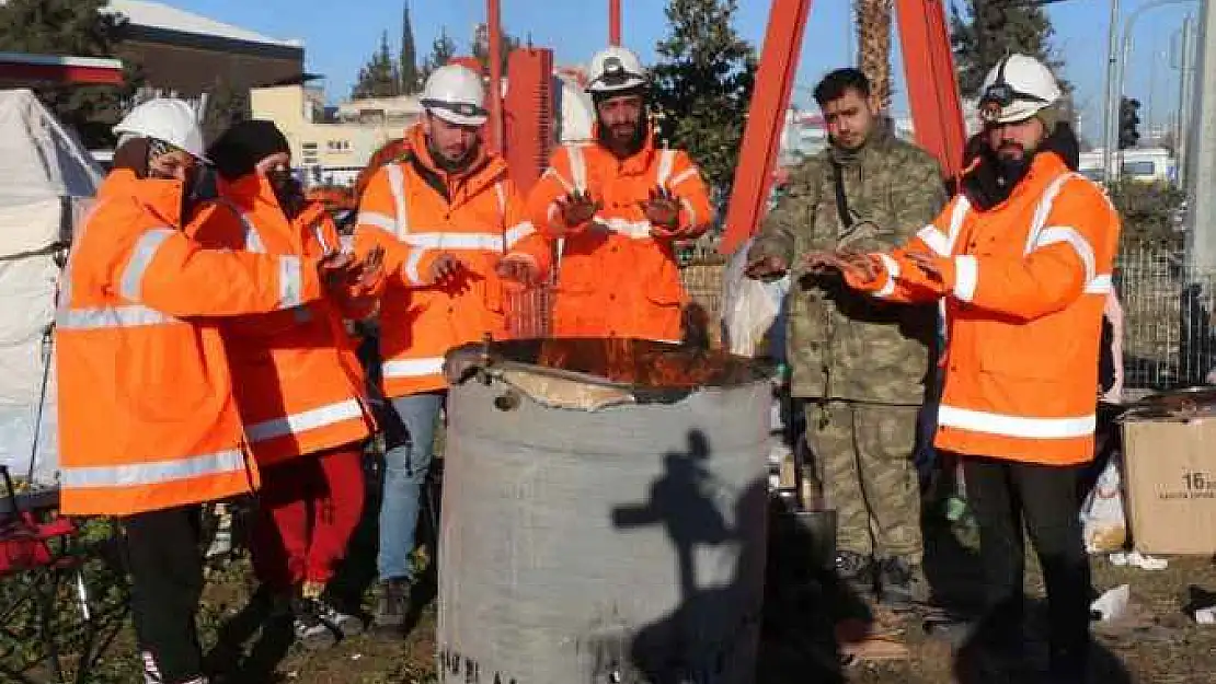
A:
[[[1102,311],[1119,216],[1064,162],[1052,73],[1002,60],[980,100],[984,151],[942,214],[893,254],[812,255],[883,299],[945,303],[935,443],[963,458],[980,527],[987,614],[979,635],[1020,648],[1023,522],[1047,584],[1051,675],[1085,682],[1090,565],[1077,476],[1093,458]]]

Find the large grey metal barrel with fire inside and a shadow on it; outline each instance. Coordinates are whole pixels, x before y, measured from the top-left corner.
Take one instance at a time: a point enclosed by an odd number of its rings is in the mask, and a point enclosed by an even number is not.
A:
[[[569,339],[462,347],[446,373],[441,682],[750,682],[767,368]]]

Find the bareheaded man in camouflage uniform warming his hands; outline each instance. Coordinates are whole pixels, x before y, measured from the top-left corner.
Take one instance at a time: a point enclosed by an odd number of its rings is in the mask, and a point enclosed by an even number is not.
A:
[[[807,400],[807,441],[837,510],[837,571],[856,590],[877,586],[883,603],[910,607],[927,593],[912,457],[936,310],[877,303],[798,261],[902,244],[945,205],[945,186],[933,157],[895,137],[860,70],[828,74],[815,98],[832,145],[790,174],[748,254],[748,276],[793,267],[792,391]]]

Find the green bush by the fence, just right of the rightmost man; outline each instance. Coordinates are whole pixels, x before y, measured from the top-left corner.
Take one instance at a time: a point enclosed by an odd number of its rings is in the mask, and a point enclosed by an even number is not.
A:
[[[1182,248],[1178,230],[1186,192],[1167,183],[1120,181],[1110,188],[1110,200],[1122,219],[1122,250],[1158,248],[1176,251]]]

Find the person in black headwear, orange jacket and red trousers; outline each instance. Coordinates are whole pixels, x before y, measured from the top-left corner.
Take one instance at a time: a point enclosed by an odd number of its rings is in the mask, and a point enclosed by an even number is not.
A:
[[[291,175],[287,139],[248,120],[208,151],[220,200],[193,234],[214,248],[320,258],[338,251],[338,231]],[[249,448],[261,470],[252,530],[259,599],[289,609],[305,646],[333,644],[362,620],[323,595],[364,507],[362,442],[371,412],[364,372],[347,335],[354,303],[328,296],[291,311],[226,318],[224,343]]]

